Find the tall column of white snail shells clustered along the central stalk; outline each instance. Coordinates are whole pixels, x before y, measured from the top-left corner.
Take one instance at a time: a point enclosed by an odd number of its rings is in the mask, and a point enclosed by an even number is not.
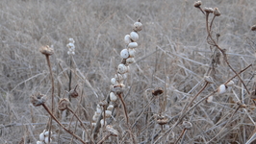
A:
[[[124,80],[127,78],[127,73],[129,72],[129,64],[135,62],[135,53],[136,48],[138,47],[138,39],[139,35],[138,32],[140,32],[142,29],[142,24],[140,20],[138,22],[134,23],[133,26],[133,32],[131,32],[129,35],[124,36],[124,43],[125,48],[120,52],[120,57],[122,58],[121,63],[117,66],[115,77],[111,79],[111,93],[110,93],[110,103],[106,108],[101,107],[100,105],[97,106],[97,110],[95,111],[93,117],[92,117],[92,123],[91,125],[94,127],[96,126],[96,121],[100,116],[100,112],[102,113],[102,116],[105,118],[100,120],[101,127],[104,125],[106,126],[106,118],[109,118],[112,116],[112,111],[114,108],[115,101],[117,99],[116,92],[120,92],[124,88]],[[99,110],[100,109],[100,110]],[[102,112],[102,110],[105,110]]]

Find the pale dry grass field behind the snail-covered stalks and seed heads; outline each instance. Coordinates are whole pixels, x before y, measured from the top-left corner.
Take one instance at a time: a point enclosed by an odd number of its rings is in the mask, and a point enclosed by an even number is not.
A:
[[[202,9],[218,7],[221,12],[211,30],[218,44],[209,39],[206,14],[193,4],[192,0],[1,0],[0,143],[36,144],[39,134],[49,128],[52,144],[246,143],[256,130],[256,32],[251,31],[256,2],[202,1]],[[209,25],[213,15],[209,14]],[[106,127],[95,132],[92,116],[110,94],[120,52],[126,47],[123,37],[138,19],[143,26],[136,62],[129,66],[122,91],[126,107],[117,99],[106,120],[117,136]],[[67,55],[70,37],[75,40],[73,56]],[[52,106],[51,74],[39,52],[44,45],[54,49],[53,114],[84,142],[56,121],[50,125],[49,112],[30,102],[30,96],[40,92],[47,96],[45,106]],[[210,77],[212,84],[206,79]],[[233,86],[226,86],[229,80]],[[224,93],[218,91],[220,84],[225,84]],[[76,85],[79,96],[70,99],[69,108],[85,128],[70,110],[62,112],[57,106]],[[156,88],[164,93],[154,96]],[[165,125],[159,125],[161,118]]]

